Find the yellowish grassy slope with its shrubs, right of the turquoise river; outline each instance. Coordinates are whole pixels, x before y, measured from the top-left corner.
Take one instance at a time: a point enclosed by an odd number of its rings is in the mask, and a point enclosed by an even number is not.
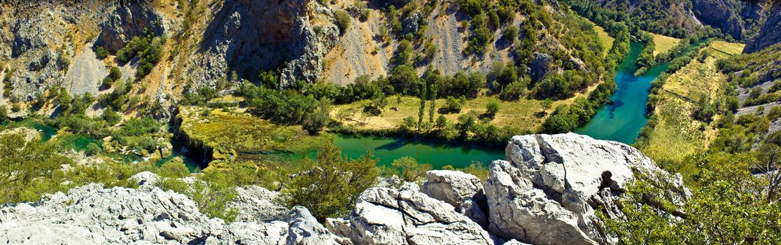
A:
[[[654,94],[648,102],[653,109],[651,119],[638,144],[644,154],[658,162],[684,162],[708,149],[718,129],[715,122],[731,113],[724,105],[729,104],[733,87],[719,71],[717,61],[740,54],[742,47],[713,41],[688,65],[654,81]],[[691,173],[679,171],[686,177]]]

